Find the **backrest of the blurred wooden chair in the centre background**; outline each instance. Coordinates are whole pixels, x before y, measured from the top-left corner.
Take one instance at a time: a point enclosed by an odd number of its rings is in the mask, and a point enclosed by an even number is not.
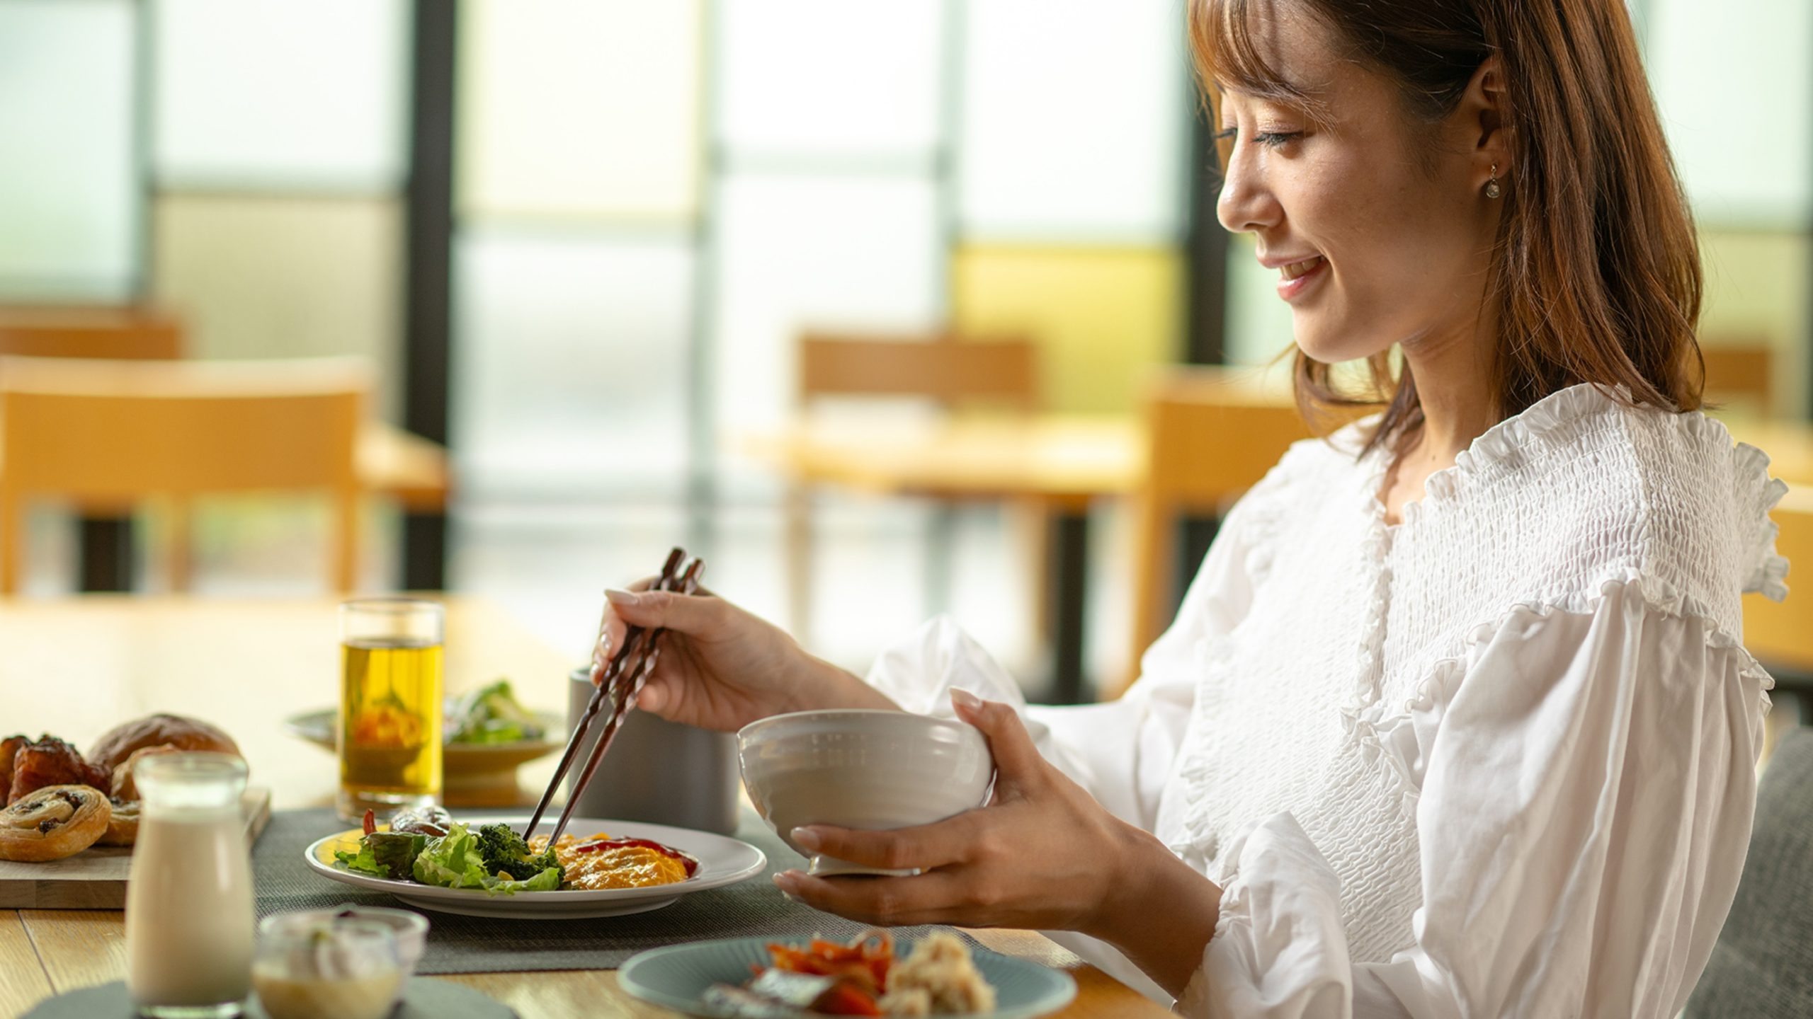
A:
[[[1026,337],[807,332],[800,337],[800,403],[832,395],[994,401],[1035,410],[1039,348]]]

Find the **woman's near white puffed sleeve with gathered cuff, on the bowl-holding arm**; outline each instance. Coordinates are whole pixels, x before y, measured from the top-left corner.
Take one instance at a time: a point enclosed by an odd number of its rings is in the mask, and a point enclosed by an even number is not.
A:
[[[1414,946],[1354,963],[1289,814],[1229,850],[1191,1017],[1637,1015],[1686,1003],[1737,890],[1768,674],[1679,600],[1517,609],[1438,673]]]

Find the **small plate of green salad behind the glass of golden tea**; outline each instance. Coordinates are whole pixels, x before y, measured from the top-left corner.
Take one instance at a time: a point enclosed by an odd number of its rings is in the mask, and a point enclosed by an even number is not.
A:
[[[296,736],[334,751],[332,707],[283,720]],[[450,803],[484,807],[517,801],[517,767],[564,747],[566,718],[529,711],[517,702],[509,680],[497,680],[448,698],[441,727],[442,796]]]

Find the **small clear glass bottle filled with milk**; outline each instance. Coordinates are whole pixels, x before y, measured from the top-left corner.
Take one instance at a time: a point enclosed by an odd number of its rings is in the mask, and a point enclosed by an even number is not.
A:
[[[125,985],[140,1015],[238,1015],[252,990],[245,762],[158,754],[132,765],[143,807],[125,888]]]

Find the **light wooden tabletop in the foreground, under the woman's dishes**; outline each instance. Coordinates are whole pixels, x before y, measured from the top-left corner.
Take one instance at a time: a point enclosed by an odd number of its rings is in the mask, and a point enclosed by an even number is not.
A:
[[[89,597],[0,602],[5,729],[49,731],[76,745],[149,711],[219,723],[247,754],[252,781],[277,809],[332,801],[334,758],[283,731],[286,714],[334,704],[339,645],[332,600],[221,602]],[[584,647],[544,645],[482,602],[448,600],[448,689],[509,676],[529,705],[566,704],[567,671]],[[526,767],[544,783],[551,762]],[[1079,985],[1066,1017],[1162,1017],[1166,1010],[1032,932],[974,932],[979,941],[1068,968]],[[0,1017],[36,1001],[125,977],[123,914],[0,910]],[[609,970],[462,974],[524,1019],[540,1015],[674,1015],[633,1001]]]

